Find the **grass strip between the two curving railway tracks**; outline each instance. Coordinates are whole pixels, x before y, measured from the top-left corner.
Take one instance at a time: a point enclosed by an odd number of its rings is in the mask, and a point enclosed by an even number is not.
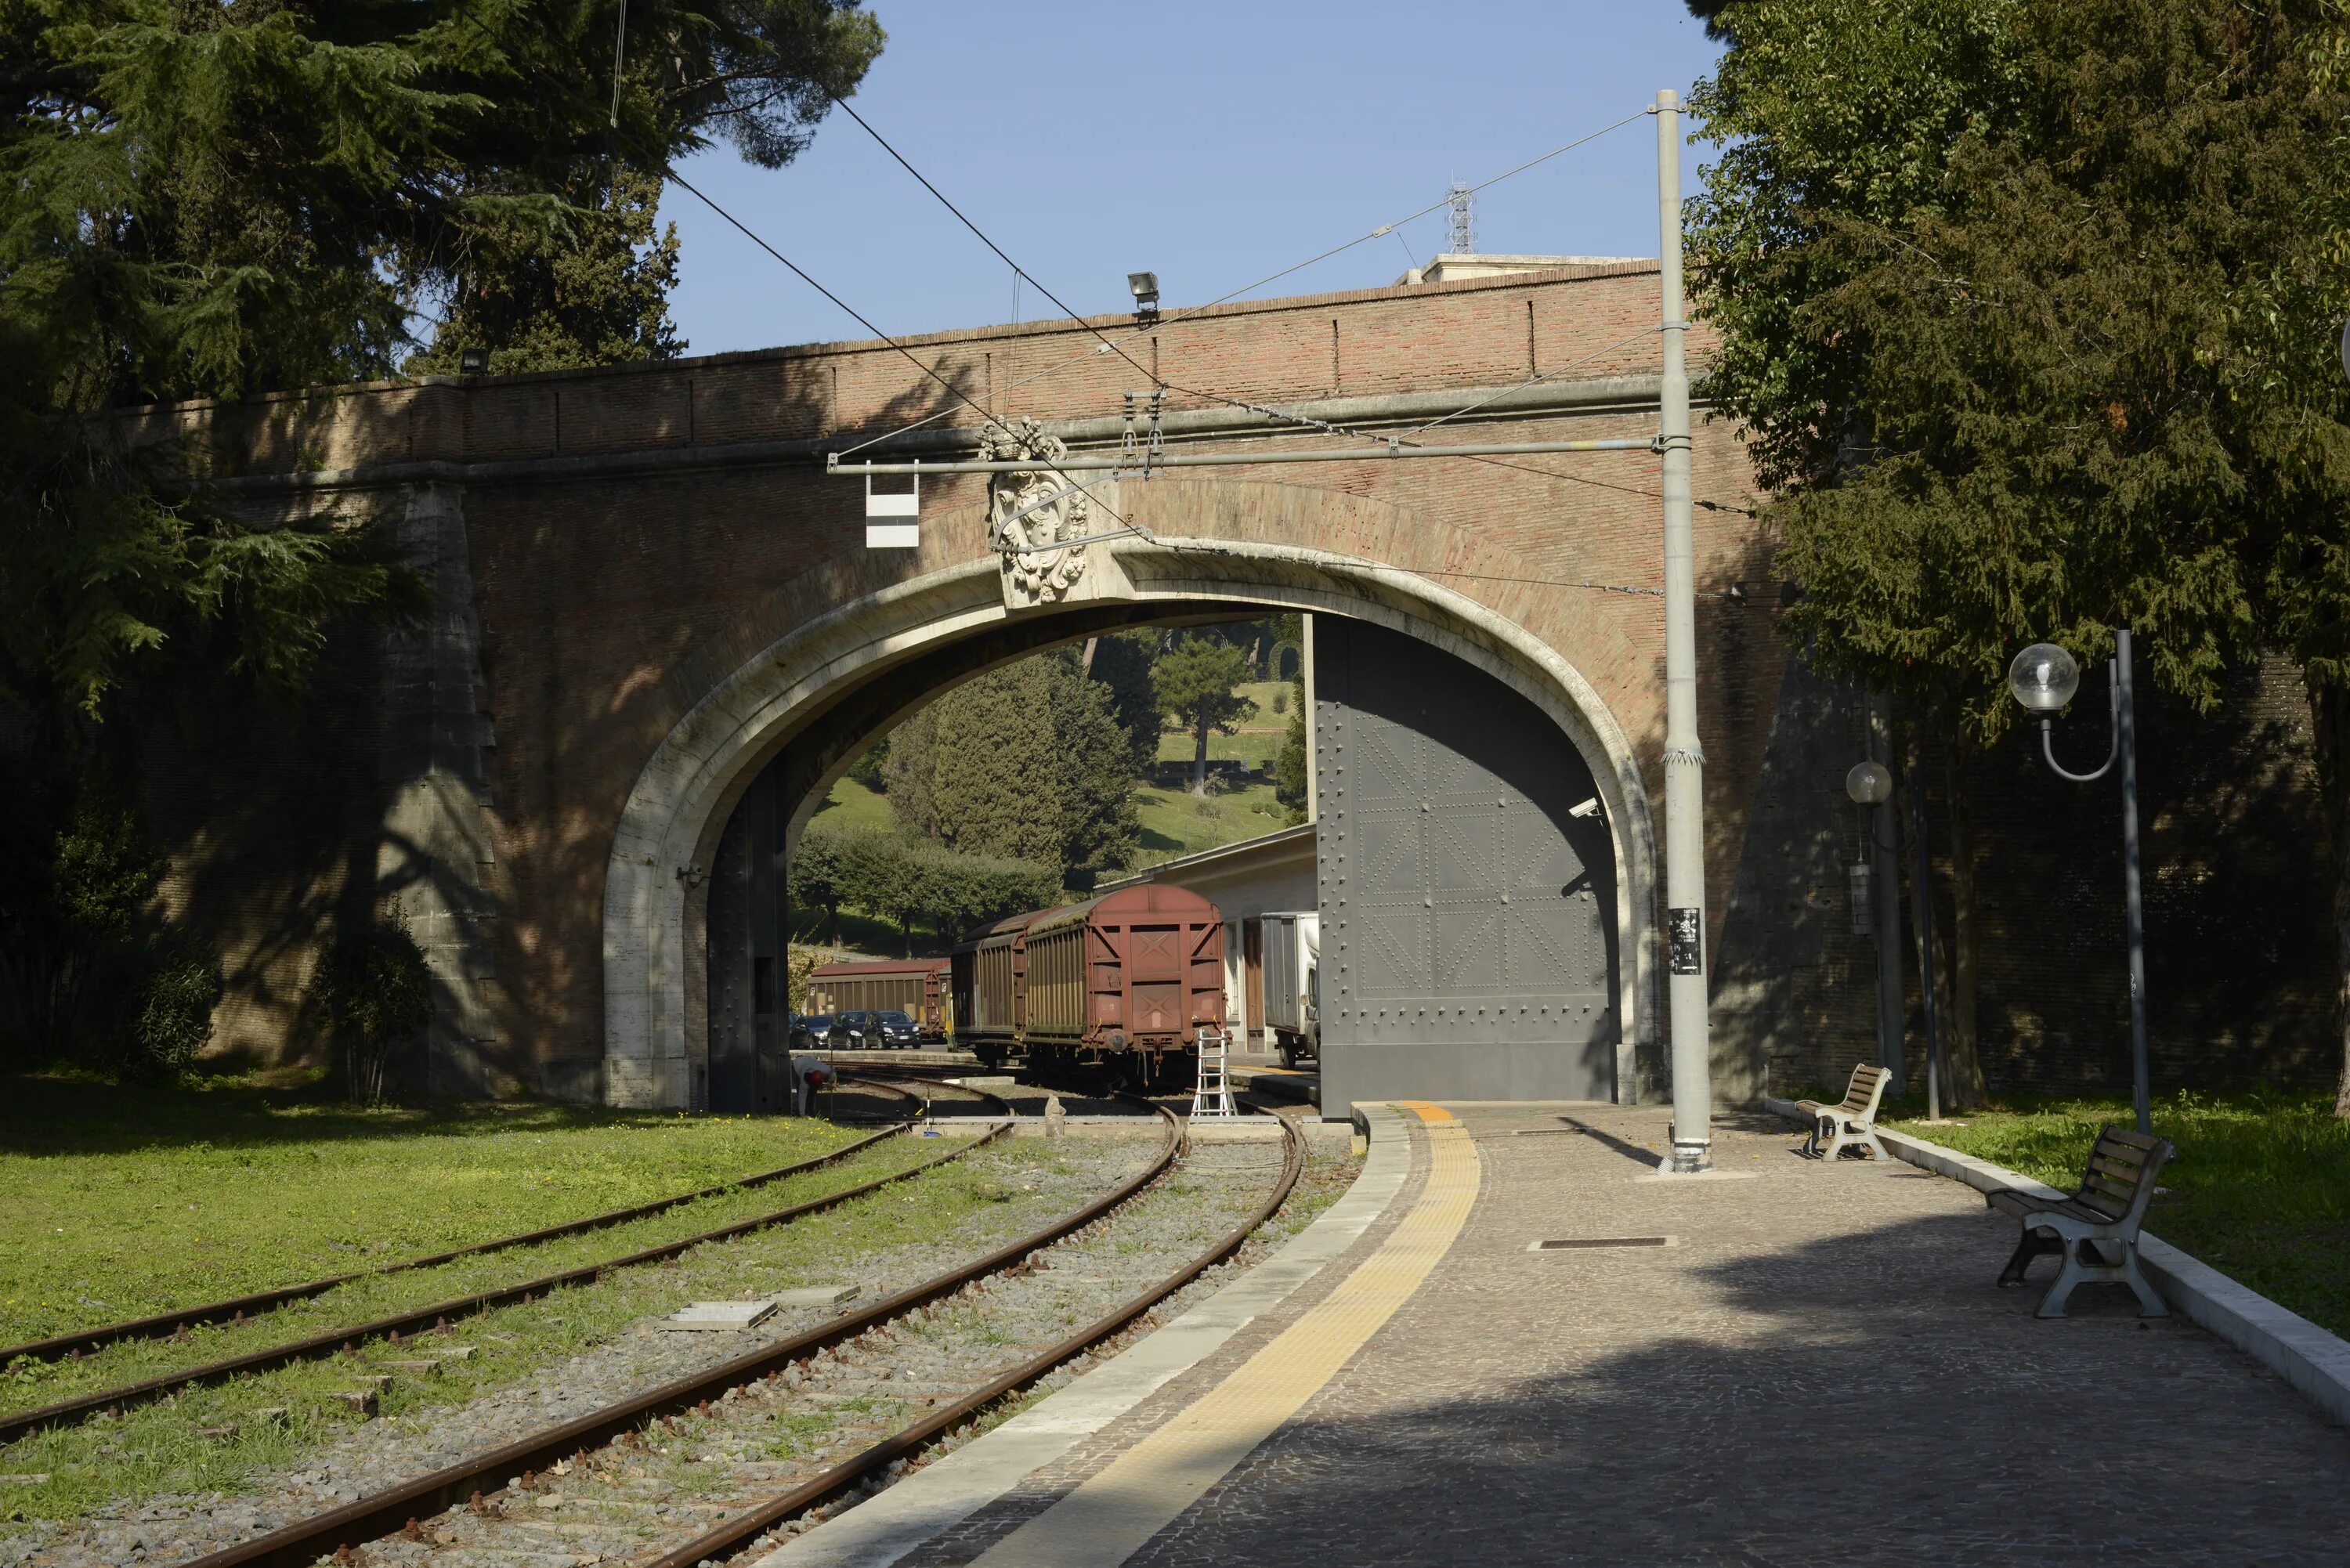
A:
[[[879,1164],[895,1161],[905,1168],[940,1150],[938,1140],[895,1140],[881,1145],[874,1157],[860,1157],[858,1164],[872,1175]],[[1018,1185],[1034,1180],[1041,1168],[1065,1168],[1065,1161],[1034,1143],[999,1145],[841,1208],[693,1248],[667,1265],[623,1269],[536,1302],[503,1307],[456,1324],[444,1335],[428,1333],[404,1345],[364,1347],[352,1359],[289,1366],[212,1389],[190,1389],[167,1403],[139,1406],[118,1418],[42,1432],[0,1450],[0,1472],[49,1479],[40,1486],[9,1488],[9,1495],[0,1497],[0,1509],[12,1519],[73,1519],[96,1507],[129,1505],[162,1493],[244,1490],[258,1474],[317,1453],[362,1420],[336,1401],[336,1392],[352,1387],[355,1375],[388,1371],[388,1361],[472,1347],[470,1359],[449,1361],[432,1375],[392,1373],[381,1415],[421,1434],[428,1408],[461,1406],[489,1389],[522,1382],[569,1356],[611,1345],[646,1319],[691,1300],[851,1284],[858,1281],[865,1260],[886,1248],[945,1241],[978,1248],[1008,1239],[1065,1201],[1032,1197]],[[846,1175],[834,1180],[846,1185]],[[214,1340],[209,1347],[219,1345],[221,1340]]]

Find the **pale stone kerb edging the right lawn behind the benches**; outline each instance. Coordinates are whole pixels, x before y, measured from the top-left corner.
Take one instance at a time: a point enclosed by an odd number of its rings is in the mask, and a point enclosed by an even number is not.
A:
[[[1795,1110],[1793,1100],[1765,1095],[1762,1110],[1805,1126],[1812,1121]],[[2016,1187],[2037,1197],[2070,1197],[2047,1182],[2035,1182],[2028,1175],[1995,1166],[1988,1159],[1974,1159],[1939,1143],[1927,1143],[1915,1133],[1880,1126],[1878,1138],[1894,1157],[1936,1175],[1967,1182],[1976,1192]],[[2298,1312],[2280,1307],[2258,1291],[2240,1286],[2211,1265],[2195,1260],[2146,1229],[2138,1232],[2138,1262],[2146,1267],[2146,1276],[2155,1284],[2155,1291],[2178,1316],[2235,1345],[2291,1382],[2303,1399],[2350,1427],[2350,1342],[2326,1333]]]

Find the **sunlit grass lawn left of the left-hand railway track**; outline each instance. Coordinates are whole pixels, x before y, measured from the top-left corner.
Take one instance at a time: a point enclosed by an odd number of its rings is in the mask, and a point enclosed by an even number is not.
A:
[[[14,1077],[0,1095],[0,1345],[644,1204],[853,1135],[776,1117],[362,1112],[317,1091]]]

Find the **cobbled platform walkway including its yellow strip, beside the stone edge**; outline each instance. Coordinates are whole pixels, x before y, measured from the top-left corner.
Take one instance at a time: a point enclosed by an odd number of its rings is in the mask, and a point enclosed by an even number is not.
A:
[[[2120,1288],[2035,1321],[1958,1182],[1426,1114],[1344,1260],[905,1563],[2350,1563],[2350,1432]],[[1528,1251],[1593,1237],[1673,1244]]]

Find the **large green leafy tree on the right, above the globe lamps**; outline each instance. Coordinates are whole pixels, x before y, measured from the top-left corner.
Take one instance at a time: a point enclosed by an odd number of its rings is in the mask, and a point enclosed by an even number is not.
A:
[[[1786,630],[1950,748],[2012,722],[2035,637],[2101,658],[2136,628],[2197,708],[2287,639],[2324,741],[2350,430],[2331,334],[2280,306],[2343,233],[2310,212],[2341,188],[2338,14],[1730,0],[1716,24],[1697,282],[1805,595]],[[1967,1044],[1962,818],[1953,839]]]

